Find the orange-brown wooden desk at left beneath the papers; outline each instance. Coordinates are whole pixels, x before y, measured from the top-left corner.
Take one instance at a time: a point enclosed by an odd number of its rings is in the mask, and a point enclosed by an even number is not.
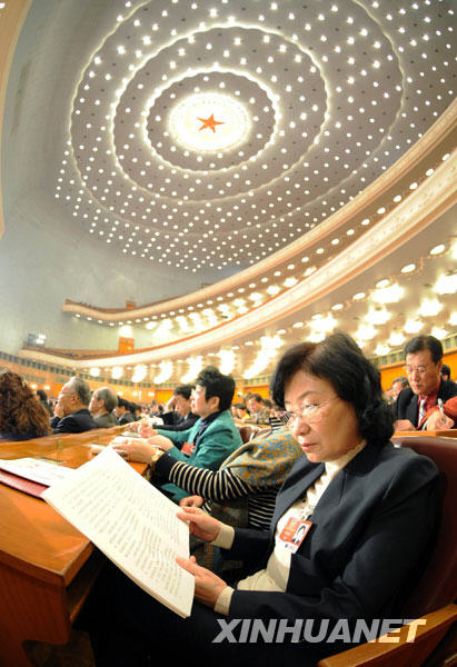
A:
[[[101,431],[105,431],[101,434]],[[77,468],[115,429],[4,442],[0,458],[46,456]],[[57,439],[61,440],[57,445]],[[41,440],[41,441],[40,441]],[[140,474],[145,464],[131,464]],[[27,639],[66,644],[103,555],[44,500],[0,485],[0,666],[30,667]]]

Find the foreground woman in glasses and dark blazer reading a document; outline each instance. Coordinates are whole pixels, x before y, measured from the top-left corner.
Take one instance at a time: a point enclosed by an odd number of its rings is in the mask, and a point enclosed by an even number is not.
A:
[[[177,509],[191,535],[249,574],[222,579],[181,559],[195,577],[192,613],[182,619],[107,571],[88,606],[97,665],[155,664],[163,646],[168,660],[185,649],[186,665],[311,666],[365,641],[361,627],[383,631],[383,619],[403,618],[433,545],[435,465],[391,445],[379,374],[345,334],[289,349],[271,394],[304,455],[277,496],[270,530]]]

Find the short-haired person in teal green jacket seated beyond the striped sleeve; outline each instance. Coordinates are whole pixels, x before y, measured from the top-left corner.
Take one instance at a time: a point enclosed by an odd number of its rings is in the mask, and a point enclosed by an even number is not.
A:
[[[213,366],[200,371],[192,392],[192,412],[200,419],[185,431],[157,431],[146,427],[140,429],[142,436],[152,435],[148,442],[132,440],[116,449],[130,460],[149,462],[151,457],[167,451],[175,459],[186,461],[197,468],[217,470],[220,464],[242,445],[239,430],[230,414],[230,404],[235,394],[235,380],[222,375]],[[167,477],[165,479],[168,479]],[[162,478],[163,480],[163,478]],[[188,494],[175,484],[158,482],[160,489],[179,501]]]

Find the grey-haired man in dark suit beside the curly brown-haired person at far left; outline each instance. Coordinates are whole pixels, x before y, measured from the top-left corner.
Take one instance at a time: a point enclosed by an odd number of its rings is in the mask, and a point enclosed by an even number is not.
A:
[[[72,377],[60,390],[51,419],[54,434],[82,434],[99,428],[88,410],[89,385],[81,378]]]

